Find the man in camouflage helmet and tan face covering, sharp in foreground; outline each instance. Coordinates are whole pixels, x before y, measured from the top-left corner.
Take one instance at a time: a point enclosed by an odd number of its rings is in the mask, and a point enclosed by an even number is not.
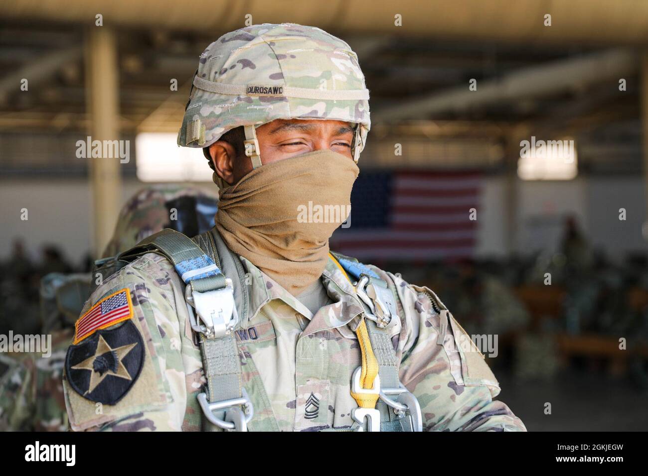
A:
[[[329,252],[368,98],[319,28],[205,49],[178,144],[210,161],[216,225],[150,236],[91,295],[65,363],[73,430],[525,430],[430,289]]]

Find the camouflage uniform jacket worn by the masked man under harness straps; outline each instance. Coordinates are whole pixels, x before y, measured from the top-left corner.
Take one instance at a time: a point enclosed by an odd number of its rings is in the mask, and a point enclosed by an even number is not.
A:
[[[357,407],[350,394],[351,376],[361,365],[354,330],[364,312],[353,286],[329,260],[322,282],[334,303],[312,315],[279,284],[241,260],[250,309],[236,339],[243,386],[254,405],[249,430],[351,427],[351,411]],[[391,328],[391,341],[400,361],[400,381],[421,405],[424,430],[525,431],[504,403],[493,400],[500,392],[498,382],[479,352],[457,345],[455,336],[465,332],[450,314],[441,321],[426,294],[429,289],[371,268],[398,293],[400,323]],[[72,429],[205,429],[196,399],[205,378],[192,339],[185,285],[166,258],[148,253],[106,280],[84,312],[124,288],[130,292],[132,321],[146,350],[139,378],[115,405],[86,400],[65,381]],[[319,400],[319,411],[316,418],[305,418],[311,394]]]

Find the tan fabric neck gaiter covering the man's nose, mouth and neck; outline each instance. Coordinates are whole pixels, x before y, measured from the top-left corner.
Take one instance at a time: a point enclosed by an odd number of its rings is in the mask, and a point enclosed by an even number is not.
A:
[[[231,251],[299,295],[327,264],[359,172],[330,150],[265,164],[220,190],[216,229]]]

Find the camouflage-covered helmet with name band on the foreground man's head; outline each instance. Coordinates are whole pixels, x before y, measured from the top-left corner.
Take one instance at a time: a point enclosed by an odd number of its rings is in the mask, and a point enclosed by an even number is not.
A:
[[[227,33],[200,55],[178,145],[205,148],[227,131],[275,119],[332,119],[358,124],[354,160],[369,131],[369,91],[358,57],[315,27],[253,25]],[[258,148],[257,148],[258,154]]]

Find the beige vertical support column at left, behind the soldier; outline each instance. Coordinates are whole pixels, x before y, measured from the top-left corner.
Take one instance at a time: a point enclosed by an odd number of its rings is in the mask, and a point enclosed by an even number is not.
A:
[[[115,32],[91,27],[86,36],[86,107],[91,141],[119,141],[119,70]],[[110,240],[121,203],[118,157],[88,157],[93,200],[93,255]]]

